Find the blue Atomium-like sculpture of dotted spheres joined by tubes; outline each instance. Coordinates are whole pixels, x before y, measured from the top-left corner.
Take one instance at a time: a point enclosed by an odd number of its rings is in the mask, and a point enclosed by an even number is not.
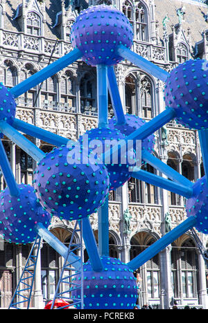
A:
[[[51,217],[82,221],[83,239],[89,255],[89,261],[83,265],[84,308],[134,308],[137,286],[133,271],[187,230],[194,227],[205,234],[208,230],[208,62],[191,59],[177,66],[171,73],[148,62],[130,50],[132,26],[125,15],[113,6],[92,6],[81,12],[73,24],[71,41],[74,49],[64,57],[10,90],[1,86],[1,138],[3,134],[6,135],[37,160],[38,165],[34,174],[34,187],[17,185],[0,141],[0,166],[8,186],[0,194],[0,232],[6,240],[15,243],[33,242],[39,234],[60,255],[66,257],[62,243],[55,240],[47,230]],[[88,136],[87,149],[86,142],[83,144],[84,136],[78,142],[72,142],[15,118],[15,98],[77,59],[96,66],[97,71],[98,128],[85,133]],[[123,113],[113,68],[122,59],[128,59],[165,82],[166,109],[149,122]],[[107,90],[110,91],[114,109],[112,120],[107,119]],[[152,154],[155,143],[153,133],[172,119],[198,130],[205,176],[194,184]],[[55,149],[44,154],[19,131],[50,142],[55,145]],[[115,140],[121,145],[108,147],[96,163],[91,163],[91,140],[100,140],[104,145],[106,139]],[[121,158],[122,147],[128,154],[125,147],[129,140],[134,142],[130,169],[128,164],[115,164],[112,161],[105,163],[105,158],[112,158],[118,151]],[[149,163],[171,181],[137,167],[137,140],[141,140],[141,163]],[[74,148],[78,148],[77,154],[74,154]],[[87,162],[84,160],[86,156],[89,157]],[[107,194],[109,190],[123,185],[130,176],[186,197],[187,219],[128,264],[123,264],[119,259],[109,257]],[[89,223],[90,214],[96,211],[98,222],[107,223],[98,228],[98,248]],[[76,255],[70,257],[76,258]],[[80,268],[80,264],[76,266]],[[72,297],[78,296],[78,290],[72,291]]]

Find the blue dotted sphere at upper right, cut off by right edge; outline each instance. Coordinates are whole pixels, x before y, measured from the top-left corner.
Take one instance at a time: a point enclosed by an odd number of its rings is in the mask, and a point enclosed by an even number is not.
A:
[[[190,59],[171,71],[164,89],[166,107],[190,129],[208,128],[208,61]]]

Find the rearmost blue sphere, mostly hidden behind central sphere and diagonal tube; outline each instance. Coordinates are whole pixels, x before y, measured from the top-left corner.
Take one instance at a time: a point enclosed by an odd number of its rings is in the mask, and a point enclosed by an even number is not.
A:
[[[118,129],[125,136],[129,136],[132,132],[142,127],[146,122],[132,114],[125,114],[125,124],[116,124],[116,118],[109,120],[110,129]],[[155,135],[150,135],[144,140],[141,140],[141,149],[146,149],[153,153],[155,147]]]

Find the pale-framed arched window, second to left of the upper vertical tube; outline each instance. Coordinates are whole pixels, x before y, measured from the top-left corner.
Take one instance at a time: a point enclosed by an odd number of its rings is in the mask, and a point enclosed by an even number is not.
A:
[[[76,110],[75,82],[69,71],[66,71],[60,81],[61,103],[66,111]],[[72,109],[73,108],[73,109]]]

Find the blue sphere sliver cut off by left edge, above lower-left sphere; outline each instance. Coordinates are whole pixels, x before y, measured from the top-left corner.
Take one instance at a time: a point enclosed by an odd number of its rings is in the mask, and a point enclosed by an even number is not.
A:
[[[10,89],[0,83],[0,121],[6,121],[12,124],[15,119],[16,102],[14,96],[10,93]],[[0,138],[3,134],[0,133]]]

